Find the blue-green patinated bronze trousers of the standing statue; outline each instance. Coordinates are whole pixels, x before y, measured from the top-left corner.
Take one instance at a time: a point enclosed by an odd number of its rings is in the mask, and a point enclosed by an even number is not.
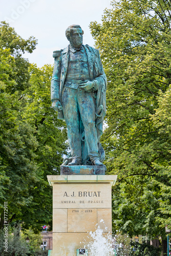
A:
[[[84,125],[88,155],[91,161],[99,159],[97,131],[95,126],[95,102],[92,90],[64,87],[62,108],[68,128],[68,140],[73,159],[81,159],[80,117]]]

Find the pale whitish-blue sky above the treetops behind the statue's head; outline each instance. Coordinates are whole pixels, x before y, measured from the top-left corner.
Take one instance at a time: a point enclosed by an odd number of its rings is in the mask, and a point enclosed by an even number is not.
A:
[[[111,0],[7,0],[1,3],[0,20],[6,20],[18,35],[34,36],[38,45],[33,53],[25,53],[37,67],[53,64],[53,51],[69,44],[65,36],[68,26],[78,24],[84,31],[83,44],[94,46],[89,25],[101,23],[105,8]]]

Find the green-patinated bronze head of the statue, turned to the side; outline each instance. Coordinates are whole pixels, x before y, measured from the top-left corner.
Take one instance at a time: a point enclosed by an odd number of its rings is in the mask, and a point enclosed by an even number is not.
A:
[[[66,29],[67,39],[70,41],[71,46],[79,48],[82,45],[83,30],[79,25],[71,25]]]

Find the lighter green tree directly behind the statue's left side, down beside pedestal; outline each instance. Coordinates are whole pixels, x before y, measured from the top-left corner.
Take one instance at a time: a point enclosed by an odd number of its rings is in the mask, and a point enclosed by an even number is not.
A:
[[[31,191],[34,198],[31,209],[25,208],[23,214],[27,228],[31,224],[34,230],[40,230],[44,224],[52,227],[52,187],[48,184],[47,175],[60,174],[62,155],[67,148],[67,132],[65,123],[57,119],[57,113],[51,108],[50,81],[53,67],[45,65],[38,69],[31,65],[30,73],[31,86],[23,98],[26,105],[22,116],[35,129],[38,147],[34,160],[41,180]]]

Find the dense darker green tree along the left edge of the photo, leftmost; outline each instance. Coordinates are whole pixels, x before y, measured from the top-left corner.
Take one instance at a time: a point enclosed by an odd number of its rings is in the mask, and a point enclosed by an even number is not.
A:
[[[33,163],[34,151],[37,142],[34,138],[33,129],[30,125],[22,122],[19,117],[20,102],[18,92],[10,94],[9,86],[15,81],[13,74],[14,58],[8,50],[3,50],[1,58],[4,64],[1,66],[0,82],[0,170],[1,170],[1,227],[4,221],[4,201],[9,204],[9,222],[22,212],[22,206],[28,206],[32,197],[29,196],[29,184],[37,180],[36,166]],[[11,59],[12,67],[9,65]],[[7,72],[5,73],[5,71]],[[4,83],[6,82],[6,83]],[[6,90],[7,89],[7,90]]]

